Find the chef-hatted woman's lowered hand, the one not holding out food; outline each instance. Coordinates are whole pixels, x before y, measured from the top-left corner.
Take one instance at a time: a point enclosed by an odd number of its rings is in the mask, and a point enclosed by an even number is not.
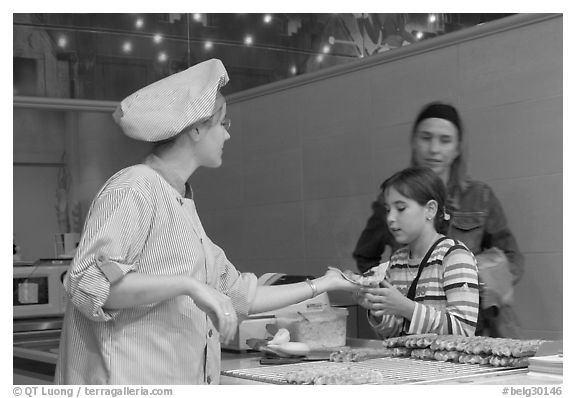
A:
[[[194,300],[194,304],[210,317],[220,333],[221,341],[230,342],[238,326],[238,317],[230,297],[195,279],[191,279],[188,295]]]

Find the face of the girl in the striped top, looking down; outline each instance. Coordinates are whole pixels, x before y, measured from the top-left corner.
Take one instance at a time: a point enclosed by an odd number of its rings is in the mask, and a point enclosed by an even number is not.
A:
[[[400,194],[394,187],[384,193],[386,221],[398,243],[410,244],[424,231],[430,208]]]

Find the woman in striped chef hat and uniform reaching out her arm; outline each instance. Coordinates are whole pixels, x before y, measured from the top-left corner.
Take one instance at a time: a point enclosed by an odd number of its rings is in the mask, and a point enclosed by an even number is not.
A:
[[[130,95],[114,113],[128,136],[156,142],[142,164],[96,195],[64,285],[58,384],[214,384],[220,340],[238,318],[329,290],[353,290],[334,271],[306,282],[257,286],[206,235],[187,183],[219,167],[230,139],[217,59]]]

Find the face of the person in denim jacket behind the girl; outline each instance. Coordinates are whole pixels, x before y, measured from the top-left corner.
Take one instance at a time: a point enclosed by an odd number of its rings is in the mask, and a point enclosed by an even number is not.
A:
[[[419,166],[429,167],[441,177],[449,177],[450,166],[460,154],[458,129],[445,119],[424,119],[416,126],[412,149]]]

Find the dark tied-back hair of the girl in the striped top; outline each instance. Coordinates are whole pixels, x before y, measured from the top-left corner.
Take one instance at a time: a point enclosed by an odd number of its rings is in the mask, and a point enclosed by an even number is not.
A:
[[[445,233],[448,222],[446,214],[446,187],[438,175],[428,167],[409,167],[401,170],[388,178],[380,186],[386,193],[394,188],[401,195],[425,206],[428,201],[435,200],[438,203],[438,211],[434,217],[436,231]]]

